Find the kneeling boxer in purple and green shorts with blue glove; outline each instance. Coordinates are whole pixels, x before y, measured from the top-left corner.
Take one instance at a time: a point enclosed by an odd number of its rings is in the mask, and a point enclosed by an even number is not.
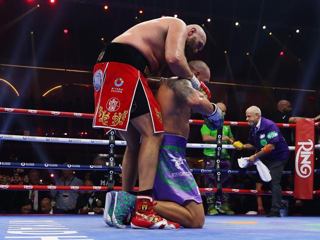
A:
[[[204,62],[192,61],[189,67],[199,80],[209,81],[210,69]],[[204,224],[200,192],[185,159],[191,109],[208,116],[205,122],[210,129],[219,129],[224,122],[219,107],[206,98],[210,98],[210,91],[201,85],[206,96],[194,90],[188,80],[171,77],[161,84],[156,96],[165,135],[154,182],[153,208],[161,217],[185,228],[202,228]]]

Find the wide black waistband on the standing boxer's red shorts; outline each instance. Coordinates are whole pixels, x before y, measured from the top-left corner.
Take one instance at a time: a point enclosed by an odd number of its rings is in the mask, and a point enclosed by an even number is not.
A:
[[[116,62],[123,63],[138,69],[148,77],[149,63],[146,58],[134,47],[118,42],[109,42],[101,51],[96,63]]]

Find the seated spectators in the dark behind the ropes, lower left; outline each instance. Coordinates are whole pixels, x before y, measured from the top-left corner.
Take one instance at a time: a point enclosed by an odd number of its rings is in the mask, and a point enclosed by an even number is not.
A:
[[[65,164],[68,164],[67,162]],[[103,166],[106,159],[96,157],[94,165]],[[5,172],[5,174],[3,173]],[[0,171],[0,185],[60,185],[60,186],[103,186],[107,184],[104,171],[75,172],[62,170],[59,178],[42,180],[45,170],[10,169]],[[121,174],[115,177],[116,185],[121,185]],[[0,198],[1,214],[102,214],[106,192],[95,191],[38,191],[2,190]],[[90,213],[89,213],[90,214]]]

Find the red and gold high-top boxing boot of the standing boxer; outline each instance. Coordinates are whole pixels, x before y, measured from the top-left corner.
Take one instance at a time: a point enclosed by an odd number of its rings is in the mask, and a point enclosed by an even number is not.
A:
[[[137,205],[135,207],[135,214],[131,220],[131,228],[134,229],[179,229],[178,223],[170,222],[161,218],[153,210],[153,202],[151,196],[137,196]]]

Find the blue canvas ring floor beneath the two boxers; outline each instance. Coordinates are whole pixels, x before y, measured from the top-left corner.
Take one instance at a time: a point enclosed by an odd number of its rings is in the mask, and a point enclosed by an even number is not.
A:
[[[2,215],[0,239],[187,240],[320,239],[320,217],[206,216],[202,229],[136,230],[108,227],[101,215]]]

